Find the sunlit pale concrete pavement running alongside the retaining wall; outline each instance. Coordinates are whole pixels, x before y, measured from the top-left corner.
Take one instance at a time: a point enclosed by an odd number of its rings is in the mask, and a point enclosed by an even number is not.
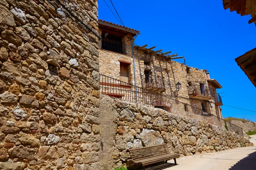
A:
[[[216,153],[184,156],[177,165],[166,170],[256,170],[256,135],[250,142],[253,147],[239,147]],[[174,163],[173,160],[169,162]]]

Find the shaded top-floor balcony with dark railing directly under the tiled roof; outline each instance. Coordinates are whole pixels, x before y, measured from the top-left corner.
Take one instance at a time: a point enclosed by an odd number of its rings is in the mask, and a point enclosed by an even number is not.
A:
[[[120,54],[127,54],[126,44],[123,44],[122,42],[117,42],[114,40],[102,40],[102,49],[113,51]]]

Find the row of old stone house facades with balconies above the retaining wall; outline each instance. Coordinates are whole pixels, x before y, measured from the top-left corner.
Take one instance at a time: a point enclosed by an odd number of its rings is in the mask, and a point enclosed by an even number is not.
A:
[[[112,84],[115,84],[113,81],[117,79],[154,93],[164,94],[222,118],[221,96],[216,93],[216,88],[222,87],[215,79],[210,79],[207,70],[199,70],[173,61],[172,58],[177,54],[167,55],[168,52],[154,51],[153,47],[146,48],[147,45],[132,46],[134,37],[140,34],[137,30],[103,20],[99,20],[98,23],[99,36],[102,38],[99,41],[99,73],[103,77],[113,78]],[[101,85],[104,81],[105,79],[100,80]],[[175,86],[177,82],[182,85],[179,91]],[[107,87],[111,86],[110,83],[104,85],[105,88],[110,89]],[[106,94],[121,99],[131,95],[126,92],[117,92],[117,90]],[[150,102],[162,103],[161,105],[154,104],[156,108],[168,110],[170,107],[161,99]],[[185,105],[181,108],[186,111]]]

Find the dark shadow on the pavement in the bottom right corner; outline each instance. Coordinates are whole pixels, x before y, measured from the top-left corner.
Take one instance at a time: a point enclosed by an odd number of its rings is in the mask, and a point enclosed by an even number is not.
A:
[[[256,151],[234,164],[229,170],[256,170]]]

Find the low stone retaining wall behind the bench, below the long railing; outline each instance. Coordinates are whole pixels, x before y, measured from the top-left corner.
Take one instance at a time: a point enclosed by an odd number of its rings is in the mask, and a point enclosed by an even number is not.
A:
[[[105,160],[112,167],[131,163],[128,148],[167,143],[172,153],[189,156],[253,145],[236,133],[162,109],[106,95],[100,99],[100,108],[106,110],[102,121],[105,121],[104,136],[108,141],[102,147],[108,148]]]

